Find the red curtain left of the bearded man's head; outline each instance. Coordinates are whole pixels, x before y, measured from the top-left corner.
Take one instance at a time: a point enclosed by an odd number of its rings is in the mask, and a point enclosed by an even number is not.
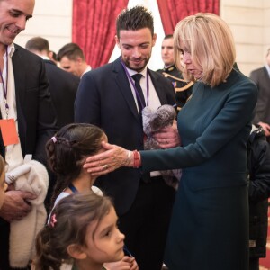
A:
[[[128,0],[73,0],[72,42],[92,67],[108,63],[115,46],[115,20]]]

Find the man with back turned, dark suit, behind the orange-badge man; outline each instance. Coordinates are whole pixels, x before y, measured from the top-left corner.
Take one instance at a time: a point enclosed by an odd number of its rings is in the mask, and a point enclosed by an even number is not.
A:
[[[25,49],[43,58],[49,79],[49,92],[57,112],[57,125],[62,128],[74,121],[74,102],[80,79],[49,60],[49,41],[41,37],[28,40]]]

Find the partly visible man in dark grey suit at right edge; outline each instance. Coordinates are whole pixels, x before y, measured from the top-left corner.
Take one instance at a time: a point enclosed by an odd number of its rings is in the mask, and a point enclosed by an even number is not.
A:
[[[266,54],[266,66],[253,70],[250,78],[258,89],[256,115],[253,123],[263,128],[267,141],[270,142],[270,49]]]

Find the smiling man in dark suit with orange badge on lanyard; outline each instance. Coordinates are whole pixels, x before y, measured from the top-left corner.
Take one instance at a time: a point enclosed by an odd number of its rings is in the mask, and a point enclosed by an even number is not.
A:
[[[44,146],[56,131],[44,63],[41,58],[14,44],[15,37],[31,18],[33,7],[34,0],[0,0],[0,151],[8,171],[19,166],[28,154],[45,164]],[[15,139],[11,138],[12,133]],[[34,198],[31,193],[21,191],[5,193],[0,210],[1,270],[10,269],[9,222],[22,220],[31,211],[28,201]]]

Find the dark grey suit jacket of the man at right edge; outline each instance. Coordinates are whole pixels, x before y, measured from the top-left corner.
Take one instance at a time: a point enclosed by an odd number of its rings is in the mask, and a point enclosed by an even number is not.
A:
[[[258,68],[251,72],[250,78],[258,88],[256,115],[254,124],[259,121],[270,124],[270,77],[266,67]]]

